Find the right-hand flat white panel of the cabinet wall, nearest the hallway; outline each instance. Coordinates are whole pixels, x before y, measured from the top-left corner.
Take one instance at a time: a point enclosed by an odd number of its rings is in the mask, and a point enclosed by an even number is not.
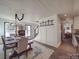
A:
[[[57,43],[57,33],[54,26],[47,26],[46,27],[46,43],[51,46],[55,46]]]

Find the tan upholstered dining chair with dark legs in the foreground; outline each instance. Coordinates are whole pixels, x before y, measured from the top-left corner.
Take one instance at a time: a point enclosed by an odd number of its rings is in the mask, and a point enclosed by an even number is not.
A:
[[[13,57],[19,57],[22,54],[26,54],[27,56],[27,45],[28,45],[28,41],[25,37],[21,37],[18,41],[17,41],[17,47],[14,48],[14,53],[9,57],[9,59],[12,59]]]

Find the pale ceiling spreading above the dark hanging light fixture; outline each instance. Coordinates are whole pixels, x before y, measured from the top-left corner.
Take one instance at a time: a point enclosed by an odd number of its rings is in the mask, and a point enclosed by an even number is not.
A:
[[[74,0],[75,1],[75,0]],[[71,14],[73,0],[0,0],[0,18],[15,19],[25,14],[24,21],[39,20],[54,14]],[[78,3],[74,2],[75,4]],[[74,8],[75,10],[77,7]]]

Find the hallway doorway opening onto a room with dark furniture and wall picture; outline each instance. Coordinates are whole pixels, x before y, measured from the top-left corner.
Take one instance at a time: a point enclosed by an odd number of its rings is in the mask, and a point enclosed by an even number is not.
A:
[[[72,19],[66,18],[61,23],[62,42],[72,43]]]

